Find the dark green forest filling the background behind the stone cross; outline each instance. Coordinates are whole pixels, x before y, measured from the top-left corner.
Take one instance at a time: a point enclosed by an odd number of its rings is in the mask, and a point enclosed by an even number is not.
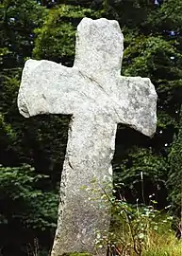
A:
[[[122,75],[155,84],[157,132],[148,138],[118,126],[114,181],[127,202],[152,195],[157,209],[181,212],[182,1],[1,0],[0,2],[0,253],[28,255],[52,247],[70,117],[24,119],[17,108],[28,58],[74,63],[74,35],[83,17],[116,19],[124,33]],[[29,253],[30,253],[29,252]],[[33,254],[29,254],[33,255]]]

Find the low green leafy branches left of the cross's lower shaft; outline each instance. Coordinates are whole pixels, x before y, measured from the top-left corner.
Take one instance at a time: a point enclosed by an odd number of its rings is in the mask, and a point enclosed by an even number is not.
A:
[[[55,228],[58,196],[53,192],[42,192],[39,188],[39,183],[47,178],[46,175],[35,174],[34,168],[28,165],[0,167],[3,222],[8,224],[13,219],[33,229]]]

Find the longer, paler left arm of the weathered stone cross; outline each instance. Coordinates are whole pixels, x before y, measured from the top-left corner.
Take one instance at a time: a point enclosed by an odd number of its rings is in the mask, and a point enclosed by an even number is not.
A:
[[[18,107],[25,117],[39,114],[74,114],[83,101],[75,68],[49,61],[28,60],[23,70]]]

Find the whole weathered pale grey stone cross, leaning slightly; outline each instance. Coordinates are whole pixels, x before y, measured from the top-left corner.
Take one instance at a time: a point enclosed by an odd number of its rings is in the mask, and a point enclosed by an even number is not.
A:
[[[25,63],[20,113],[25,118],[72,115],[52,256],[74,251],[106,254],[106,247],[96,248],[95,240],[109,227],[104,194],[106,181],[112,182],[117,124],[146,136],[156,130],[155,87],[147,78],[120,75],[123,43],[118,22],[84,18],[77,27],[72,68],[49,61]]]

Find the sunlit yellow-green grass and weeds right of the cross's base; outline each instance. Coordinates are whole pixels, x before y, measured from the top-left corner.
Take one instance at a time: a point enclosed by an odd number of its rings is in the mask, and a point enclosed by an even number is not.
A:
[[[152,215],[139,210],[132,216],[129,210],[111,233],[110,256],[182,256],[182,240],[175,237],[167,213],[154,210]]]

